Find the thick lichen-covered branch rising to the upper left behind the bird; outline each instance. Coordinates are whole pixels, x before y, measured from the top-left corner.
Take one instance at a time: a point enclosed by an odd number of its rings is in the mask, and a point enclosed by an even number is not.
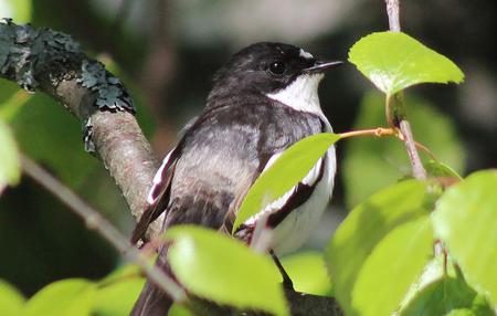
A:
[[[85,123],[87,149],[102,159],[138,219],[159,164],[120,81],[71,36],[10,20],[0,23],[0,77],[47,93]],[[158,231],[155,223],[149,233]]]

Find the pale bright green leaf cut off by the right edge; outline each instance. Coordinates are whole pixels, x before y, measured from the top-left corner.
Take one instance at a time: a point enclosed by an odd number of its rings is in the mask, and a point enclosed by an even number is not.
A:
[[[497,304],[497,171],[470,175],[450,188],[433,213],[436,234],[467,282]]]

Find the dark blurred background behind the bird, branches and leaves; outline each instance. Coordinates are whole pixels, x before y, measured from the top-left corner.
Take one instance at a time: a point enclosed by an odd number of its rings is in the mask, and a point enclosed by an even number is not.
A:
[[[158,156],[165,156],[181,126],[201,110],[212,74],[239,49],[256,41],[279,41],[345,61],[348,49],[361,36],[388,29],[380,0],[33,0],[31,4],[32,24],[71,34],[86,52],[112,63],[133,87],[133,96],[140,101],[142,127]],[[402,4],[403,31],[453,60],[466,76],[459,86],[422,85],[408,94],[429,99],[453,120],[465,151],[457,157],[463,175],[495,167],[497,2],[417,0]],[[0,6],[1,17],[11,13],[6,6]],[[361,98],[371,88],[350,64],[327,75],[320,87],[321,105],[336,131],[352,128]],[[0,103],[12,93],[15,87],[1,81]],[[47,126],[52,123],[56,127]],[[430,124],[419,122],[416,128]],[[101,164],[82,152],[76,119],[47,97],[36,96],[12,126],[24,151],[129,233],[129,211]],[[346,147],[338,146],[335,212],[326,217],[310,247],[320,247],[346,213],[347,179],[340,172]],[[364,181],[374,180],[364,175]],[[27,295],[64,277],[102,277],[120,262],[99,236],[27,178],[0,199],[0,278]]]

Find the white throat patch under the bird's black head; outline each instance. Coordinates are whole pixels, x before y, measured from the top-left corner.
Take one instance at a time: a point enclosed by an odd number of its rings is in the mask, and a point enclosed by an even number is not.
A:
[[[318,97],[318,86],[322,77],[324,74],[304,74],[287,87],[268,93],[266,96],[296,110],[324,116]]]

